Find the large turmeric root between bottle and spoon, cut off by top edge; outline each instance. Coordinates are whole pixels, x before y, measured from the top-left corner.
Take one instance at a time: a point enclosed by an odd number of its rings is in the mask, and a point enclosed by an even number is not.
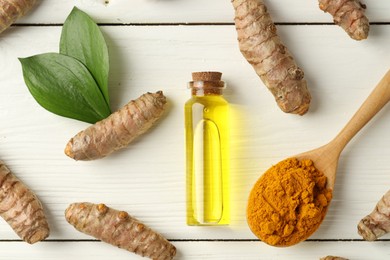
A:
[[[310,105],[304,73],[277,35],[263,0],[231,0],[241,53],[282,111],[303,115]]]

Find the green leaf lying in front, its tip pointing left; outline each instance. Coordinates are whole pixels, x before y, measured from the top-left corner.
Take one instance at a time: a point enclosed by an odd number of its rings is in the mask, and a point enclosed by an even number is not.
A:
[[[96,81],[77,59],[45,53],[19,60],[29,91],[50,112],[88,123],[111,114]]]

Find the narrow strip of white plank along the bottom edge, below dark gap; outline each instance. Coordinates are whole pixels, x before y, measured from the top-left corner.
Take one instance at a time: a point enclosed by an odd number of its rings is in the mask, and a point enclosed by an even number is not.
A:
[[[261,242],[173,242],[177,259],[291,259],[313,260],[338,255],[356,260],[389,259],[388,242],[306,242],[290,248],[275,248]],[[102,242],[0,243],[3,255],[14,260],[116,260],[145,259]]]

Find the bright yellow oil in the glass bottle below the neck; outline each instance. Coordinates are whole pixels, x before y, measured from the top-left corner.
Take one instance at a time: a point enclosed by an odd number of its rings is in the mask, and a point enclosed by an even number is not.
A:
[[[228,110],[221,95],[185,104],[188,225],[230,222]]]

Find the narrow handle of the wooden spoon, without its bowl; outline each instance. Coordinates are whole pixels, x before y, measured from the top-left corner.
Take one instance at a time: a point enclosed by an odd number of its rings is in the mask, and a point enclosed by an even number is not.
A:
[[[347,143],[371,120],[390,100],[390,70],[361,105],[359,110],[333,139],[341,152]]]

